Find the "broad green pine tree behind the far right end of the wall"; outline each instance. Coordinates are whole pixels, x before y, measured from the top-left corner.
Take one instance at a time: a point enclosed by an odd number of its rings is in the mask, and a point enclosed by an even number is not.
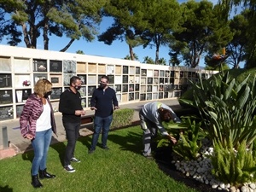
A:
[[[232,38],[229,26],[218,18],[218,11],[207,1],[182,3],[183,24],[169,44],[172,65],[197,67],[207,51],[219,49]]]

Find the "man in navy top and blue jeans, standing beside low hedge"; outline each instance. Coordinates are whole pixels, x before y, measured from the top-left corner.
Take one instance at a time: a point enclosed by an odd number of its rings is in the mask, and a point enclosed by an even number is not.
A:
[[[95,110],[95,118],[89,154],[95,151],[101,131],[102,148],[109,149],[107,146],[108,131],[113,120],[113,109],[118,109],[119,103],[115,91],[108,87],[108,80],[108,76],[102,76],[100,87],[94,90],[90,100],[90,109]]]

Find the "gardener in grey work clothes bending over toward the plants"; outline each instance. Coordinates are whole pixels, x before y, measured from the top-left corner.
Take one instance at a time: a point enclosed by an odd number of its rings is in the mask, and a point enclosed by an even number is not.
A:
[[[177,117],[176,113],[172,111],[166,104],[162,102],[148,102],[139,113],[141,127],[143,129],[143,144],[144,151],[143,155],[145,157],[151,158],[151,137],[157,136],[157,131],[159,130],[163,137],[166,137],[173,144],[177,143],[175,137],[168,134],[162,122],[169,122],[171,119],[175,123],[180,123],[180,119]]]

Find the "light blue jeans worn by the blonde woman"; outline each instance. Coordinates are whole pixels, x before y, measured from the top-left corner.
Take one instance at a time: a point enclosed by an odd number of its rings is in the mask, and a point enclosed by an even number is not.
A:
[[[34,159],[32,161],[32,175],[38,175],[38,170],[46,169],[46,160],[51,141],[51,128],[46,131],[36,132],[36,137],[32,140],[34,148]]]

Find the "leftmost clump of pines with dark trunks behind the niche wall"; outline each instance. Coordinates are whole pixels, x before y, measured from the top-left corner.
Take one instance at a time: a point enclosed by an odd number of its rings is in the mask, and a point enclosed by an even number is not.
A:
[[[9,14],[9,24],[20,26],[27,48],[37,48],[37,39],[43,35],[44,49],[49,49],[49,36],[70,39],[67,46],[61,49],[66,51],[74,40],[84,38],[92,41],[96,35],[96,26],[101,21],[101,9],[106,0],[32,0],[16,1],[1,0],[0,8]],[[16,38],[20,41],[21,33]]]

